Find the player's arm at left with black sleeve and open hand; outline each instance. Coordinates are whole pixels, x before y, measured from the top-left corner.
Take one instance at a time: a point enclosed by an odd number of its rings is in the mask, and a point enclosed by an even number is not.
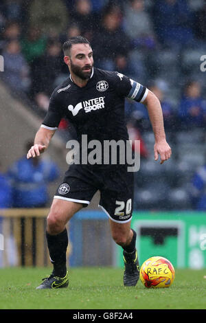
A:
[[[58,100],[57,92],[52,93],[52,97],[49,100],[49,108],[40,129],[38,129],[35,139],[34,146],[30,148],[27,153],[27,159],[31,157],[39,156],[41,153],[48,148],[49,142],[56,130],[58,129],[58,124],[63,117],[63,110],[61,104]]]

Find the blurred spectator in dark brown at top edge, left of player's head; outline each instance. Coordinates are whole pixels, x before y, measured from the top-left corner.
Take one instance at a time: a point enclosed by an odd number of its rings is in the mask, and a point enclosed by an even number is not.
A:
[[[37,27],[45,35],[53,32],[60,34],[69,23],[69,14],[63,0],[33,0],[28,19],[30,25]]]

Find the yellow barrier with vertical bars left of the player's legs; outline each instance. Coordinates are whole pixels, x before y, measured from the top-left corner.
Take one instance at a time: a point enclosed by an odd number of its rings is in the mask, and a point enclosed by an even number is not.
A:
[[[50,264],[45,240],[48,212],[47,208],[0,210],[1,267]]]

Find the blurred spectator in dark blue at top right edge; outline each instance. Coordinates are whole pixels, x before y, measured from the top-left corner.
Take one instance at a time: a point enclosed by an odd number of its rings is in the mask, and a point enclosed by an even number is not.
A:
[[[154,1],[154,24],[163,46],[179,49],[194,41],[194,15],[185,0]]]

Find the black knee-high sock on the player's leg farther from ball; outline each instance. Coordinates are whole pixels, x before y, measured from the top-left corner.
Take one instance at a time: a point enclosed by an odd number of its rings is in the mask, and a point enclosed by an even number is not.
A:
[[[46,232],[46,237],[50,260],[54,265],[53,274],[58,277],[64,277],[67,274],[67,229],[55,235]]]

